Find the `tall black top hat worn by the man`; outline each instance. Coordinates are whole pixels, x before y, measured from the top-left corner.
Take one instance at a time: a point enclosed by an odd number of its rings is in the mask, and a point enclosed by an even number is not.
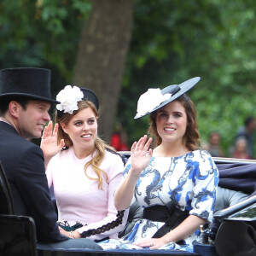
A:
[[[51,99],[50,70],[45,68],[15,67],[0,70],[0,98],[7,96],[59,103]]]

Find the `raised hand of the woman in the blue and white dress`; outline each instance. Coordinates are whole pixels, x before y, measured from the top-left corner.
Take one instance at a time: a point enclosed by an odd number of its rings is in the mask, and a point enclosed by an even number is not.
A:
[[[149,148],[152,138],[150,137],[148,142],[147,139],[147,135],[144,135],[131,146],[131,172],[137,176],[148,166],[152,157],[152,149]]]

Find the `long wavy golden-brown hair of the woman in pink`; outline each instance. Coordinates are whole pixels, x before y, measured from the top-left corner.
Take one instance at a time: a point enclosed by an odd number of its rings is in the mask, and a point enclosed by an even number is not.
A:
[[[78,110],[73,111],[73,113],[62,113],[62,115],[60,116],[60,114],[58,115],[57,113],[55,114],[55,120],[56,123],[59,124],[59,128],[58,128],[58,137],[57,137],[57,143],[61,143],[61,139],[64,139],[65,141],[65,147],[69,148],[70,146],[73,146],[73,141],[71,140],[71,138],[68,136],[68,134],[66,132],[63,131],[62,127],[61,127],[61,123],[64,123],[65,125],[68,124],[68,122],[70,121],[70,119],[73,118],[73,116],[77,113],[79,113],[80,111],[82,111],[84,108],[90,108],[93,113],[95,113],[96,117],[98,117],[98,111],[95,107],[95,105],[90,102],[90,101],[80,101],[78,102]],[[86,175],[86,177],[92,179],[92,180],[98,180],[98,188],[102,189],[102,181],[103,178],[105,177],[106,180],[108,180],[108,175],[105,171],[103,171],[102,169],[99,168],[99,166],[102,163],[102,160],[105,156],[105,149],[109,148],[113,151],[115,151],[114,148],[110,147],[107,143],[105,143],[100,137],[96,136],[96,140],[95,140],[95,148],[96,148],[96,155],[92,158],[92,160],[90,160],[89,162],[87,162],[84,166],[84,173]],[[95,177],[90,177],[88,176],[86,169],[88,166],[92,166],[92,169],[94,170],[94,172],[96,173],[97,178]]]

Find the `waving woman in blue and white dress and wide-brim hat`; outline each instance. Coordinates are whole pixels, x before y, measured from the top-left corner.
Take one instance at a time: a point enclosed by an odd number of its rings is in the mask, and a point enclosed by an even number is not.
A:
[[[199,148],[194,103],[185,93],[199,82],[189,79],[165,89],[149,89],[137,104],[135,119],[150,114],[149,133],[131,147],[122,182],[115,193],[118,210],[134,197],[143,207],[130,234],[133,247],[193,252],[200,225],[212,221],[218,170]]]

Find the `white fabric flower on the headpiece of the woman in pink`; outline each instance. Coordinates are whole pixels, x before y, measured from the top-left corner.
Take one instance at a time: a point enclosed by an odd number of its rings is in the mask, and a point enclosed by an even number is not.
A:
[[[56,100],[61,102],[56,108],[64,113],[73,113],[74,110],[78,110],[78,102],[84,97],[82,90],[78,86],[66,85],[56,96]]]

